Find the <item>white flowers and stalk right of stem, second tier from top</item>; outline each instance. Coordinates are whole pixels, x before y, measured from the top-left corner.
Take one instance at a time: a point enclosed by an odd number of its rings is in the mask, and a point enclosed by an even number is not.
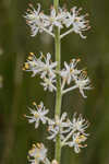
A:
[[[80,93],[83,95],[84,98],[86,98],[87,96],[84,94],[84,90],[90,90],[90,80],[87,77],[86,71],[84,70],[77,70],[76,69],[76,65],[80,61],[80,59],[72,59],[70,65],[68,65],[66,62],[64,62],[64,68],[60,71],[60,75],[62,78],[62,93],[66,93],[69,91],[72,91],[74,89],[80,90]],[[69,89],[64,89],[65,84],[70,84],[70,83],[74,83],[73,86],[69,87]]]

